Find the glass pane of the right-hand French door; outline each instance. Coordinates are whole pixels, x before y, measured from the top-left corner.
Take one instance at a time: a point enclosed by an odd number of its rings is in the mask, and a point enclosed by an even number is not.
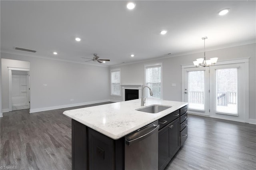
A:
[[[238,115],[238,68],[216,69],[216,112]]]

